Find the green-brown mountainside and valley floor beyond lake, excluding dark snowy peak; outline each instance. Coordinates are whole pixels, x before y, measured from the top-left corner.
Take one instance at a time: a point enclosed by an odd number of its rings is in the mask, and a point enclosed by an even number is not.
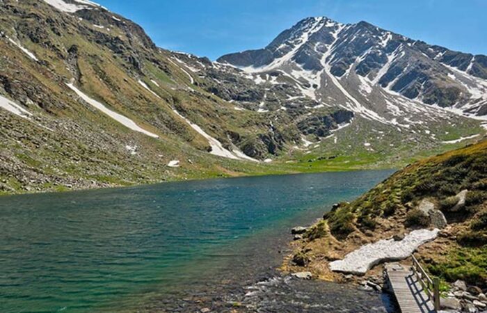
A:
[[[481,121],[390,93],[376,114],[360,88],[315,93],[333,81],[310,85],[308,72],[161,49],[90,1],[1,1],[0,51],[0,193],[385,167],[484,134]],[[481,73],[475,60],[469,73]]]

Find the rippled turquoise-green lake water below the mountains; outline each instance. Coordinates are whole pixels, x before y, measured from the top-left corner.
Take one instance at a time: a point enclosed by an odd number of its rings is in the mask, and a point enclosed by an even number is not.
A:
[[[311,223],[390,173],[2,197],[0,312],[135,310],[157,297],[168,304],[209,282],[248,279],[257,275],[256,258],[262,267],[275,264],[265,251],[277,250],[289,227]],[[257,250],[258,257],[249,252]]]

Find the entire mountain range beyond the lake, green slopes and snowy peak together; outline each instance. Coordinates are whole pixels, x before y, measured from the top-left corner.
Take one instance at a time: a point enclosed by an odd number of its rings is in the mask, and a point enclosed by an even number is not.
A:
[[[485,56],[365,22],[211,62],[91,1],[3,0],[0,50],[0,193],[390,167],[485,134]]]

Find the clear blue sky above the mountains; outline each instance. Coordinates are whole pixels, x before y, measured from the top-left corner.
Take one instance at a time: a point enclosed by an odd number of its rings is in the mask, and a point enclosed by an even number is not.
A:
[[[211,59],[265,47],[310,16],[365,20],[413,39],[487,54],[487,0],[97,0],[159,47]]]

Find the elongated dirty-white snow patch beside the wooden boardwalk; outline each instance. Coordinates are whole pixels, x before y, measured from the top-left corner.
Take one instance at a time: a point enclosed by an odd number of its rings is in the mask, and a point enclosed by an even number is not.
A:
[[[369,243],[350,252],[344,259],[330,262],[332,271],[364,275],[372,266],[381,262],[398,261],[409,257],[422,244],[438,236],[435,230],[413,230],[403,240],[383,239]]]

